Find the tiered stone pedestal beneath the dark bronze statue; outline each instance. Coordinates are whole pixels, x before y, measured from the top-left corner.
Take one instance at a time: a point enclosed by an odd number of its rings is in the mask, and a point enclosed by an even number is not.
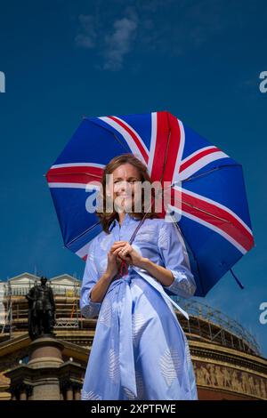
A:
[[[14,400],[76,400],[84,367],[62,358],[64,343],[43,335],[29,344],[28,364],[7,372]]]

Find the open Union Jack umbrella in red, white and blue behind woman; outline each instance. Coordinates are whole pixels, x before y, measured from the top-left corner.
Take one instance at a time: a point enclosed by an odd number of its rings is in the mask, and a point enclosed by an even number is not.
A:
[[[111,158],[129,152],[148,166],[152,181],[174,184],[195,295],[205,296],[254,246],[242,166],[167,111],[83,119],[46,173],[64,245],[86,260],[101,232],[86,210],[95,194],[86,185],[101,181]]]

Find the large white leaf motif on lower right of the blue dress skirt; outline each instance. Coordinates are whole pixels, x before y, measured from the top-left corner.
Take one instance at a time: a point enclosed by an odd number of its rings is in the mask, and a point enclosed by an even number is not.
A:
[[[181,358],[178,350],[166,349],[164,354],[159,358],[159,366],[167,386],[171,386],[174,379],[181,374]]]

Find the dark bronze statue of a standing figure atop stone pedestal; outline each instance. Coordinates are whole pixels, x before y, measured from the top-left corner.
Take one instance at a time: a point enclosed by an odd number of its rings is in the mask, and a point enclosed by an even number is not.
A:
[[[31,340],[44,335],[53,335],[55,303],[53,290],[41,277],[41,285],[31,287],[25,296],[28,299],[28,334]]]

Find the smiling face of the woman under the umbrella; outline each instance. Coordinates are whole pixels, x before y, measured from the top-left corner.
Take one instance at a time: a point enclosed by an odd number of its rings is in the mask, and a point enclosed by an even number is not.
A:
[[[111,193],[113,193],[116,210],[133,212],[134,196],[138,193],[138,186],[141,184],[141,176],[138,169],[134,165],[125,163],[119,165],[112,175]]]

